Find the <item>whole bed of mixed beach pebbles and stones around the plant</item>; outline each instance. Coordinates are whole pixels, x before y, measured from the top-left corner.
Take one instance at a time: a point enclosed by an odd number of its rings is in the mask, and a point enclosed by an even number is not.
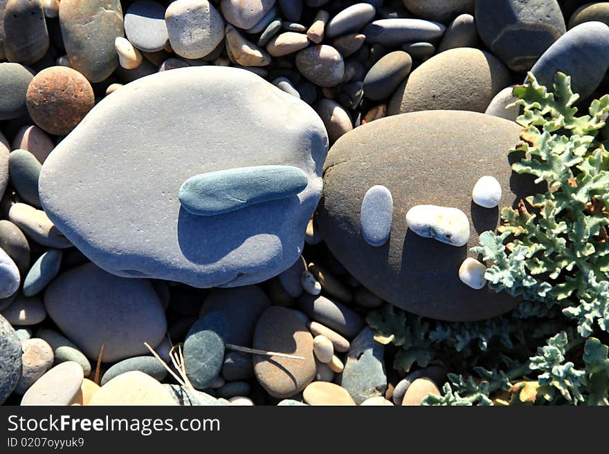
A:
[[[445,394],[370,314],[522,303],[472,252],[547,189],[514,87],[608,69],[609,2],[0,0],[0,404]]]

